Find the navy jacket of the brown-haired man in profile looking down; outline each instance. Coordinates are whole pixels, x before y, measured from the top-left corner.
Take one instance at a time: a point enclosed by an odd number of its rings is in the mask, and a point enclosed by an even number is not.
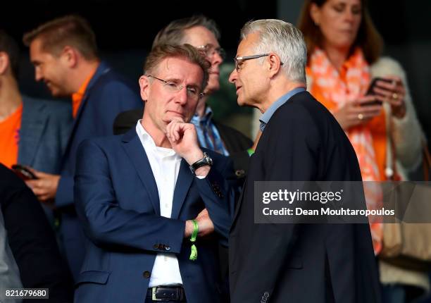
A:
[[[84,235],[73,204],[77,147],[87,138],[112,135],[115,116],[142,104],[137,92],[137,87],[132,87],[125,78],[101,62],[89,82],[73,123],[61,164],[56,206],[62,212],[63,245],[74,278],[77,277],[84,258]]]

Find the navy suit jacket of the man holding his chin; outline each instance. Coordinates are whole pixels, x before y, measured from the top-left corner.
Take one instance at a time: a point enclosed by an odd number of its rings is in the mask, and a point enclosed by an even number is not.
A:
[[[217,245],[218,240],[227,242],[234,200],[227,175],[235,176],[226,157],[207,152],[214,164],[204,179],[196,178],[182,160],[172,216],[165,218],[135,129],[82,143],[75,197],[88,240],[75,302],[144,302],[158,252],[177,256],[187,302],[220,302]],[[204,208],[215,233],[199,238],[197,260],[190,261],[185,221]]]

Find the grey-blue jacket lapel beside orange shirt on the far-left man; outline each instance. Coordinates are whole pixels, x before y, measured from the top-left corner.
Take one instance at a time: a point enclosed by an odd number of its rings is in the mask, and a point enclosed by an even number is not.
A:
[[[46,104],[35,103],[23,97],[23,117],[21,119],[20,142],[18,144],[18,163],[33,166],[33,161],[39,148],[40,139],[44,133],[48,118],[44,107]]]

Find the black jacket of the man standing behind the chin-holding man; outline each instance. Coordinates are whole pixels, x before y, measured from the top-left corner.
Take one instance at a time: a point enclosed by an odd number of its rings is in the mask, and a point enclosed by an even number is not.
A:
[[[113,123],[114,135],[123,134],[127,130],[130,130],[130,128],[135,127],[137,120],[141,119],[143,114],[144,109],[142,108],[120,113]],[[213,123],[218,129],[221,140],[225,143],[227,152],[229,152],[230,158],[233,161],[235,175],[240,180],[244,180],[247,167],[249,166],[249,154],[246,150],[253,145],[253,142],[243,135],[242,132],[235,130],[235,128],[215,122],[214,120]]]

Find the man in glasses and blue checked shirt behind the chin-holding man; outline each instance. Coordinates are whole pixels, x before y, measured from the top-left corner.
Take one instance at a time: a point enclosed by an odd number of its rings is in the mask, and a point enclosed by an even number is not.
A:
[[[153,48],[161,44],[187,43],[201,51],[211,63],[205,94],[199,99],[191,122],[196,126],[201,147],[230,156],[237,178],[244,180],[249,161],[247,149],[251,148],[253,142],[238,130],[215,121],[211,107],[206,104],[208,97],[220,88],[219,68],[225,58],[225,51],[220,47],[219,40],[220,31],[213,20],[205,16],[192,16],[173,20],[166,25],[154,38]],[[114,132],[129,129],[141,116],[142,109],[122,113],[115,121]]]

